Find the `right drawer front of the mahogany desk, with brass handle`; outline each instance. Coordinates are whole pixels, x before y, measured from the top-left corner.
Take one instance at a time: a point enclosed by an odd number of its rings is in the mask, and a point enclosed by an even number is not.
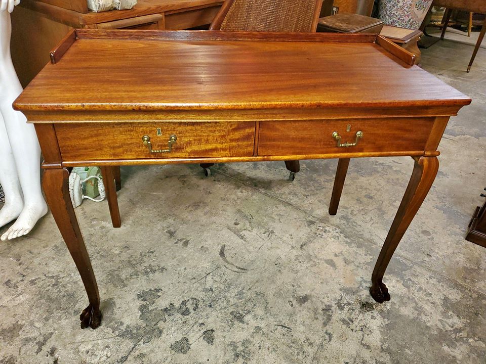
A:
[[[259,156],[400,152],[425,149],[434,118],[262,121]],[[357,138],[358,132],[362,138]],[[341,137],[338,147],[333,133]]]

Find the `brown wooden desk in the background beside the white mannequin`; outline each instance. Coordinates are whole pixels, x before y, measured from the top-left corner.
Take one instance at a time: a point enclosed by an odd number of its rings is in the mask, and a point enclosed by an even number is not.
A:
[[[131,10],[93,13],[86,0],[22,0],[12,13],[12,59],[25,87],[49,63],[49,52],[72,28],[181,30],[209,26],[222,3],[138,0]]]

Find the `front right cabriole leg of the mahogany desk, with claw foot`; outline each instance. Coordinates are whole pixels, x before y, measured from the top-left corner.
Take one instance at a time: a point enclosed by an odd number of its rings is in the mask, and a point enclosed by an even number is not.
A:
[[[370,293],[373,299],[379,303],[390,300],[388,289],[383,283],[383,275],[403,234],[407,231],[425,196],[427,196],[438,168],[439,161],[437,157],[417,157],[415,159],[414,171],[412,172],[409,185],[373,270]]]

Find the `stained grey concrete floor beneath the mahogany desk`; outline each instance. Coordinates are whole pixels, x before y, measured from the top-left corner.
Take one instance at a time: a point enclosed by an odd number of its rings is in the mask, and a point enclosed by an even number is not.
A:
[[[337,216],[336,160],[122,168],[123,225],[76,209],[104,313],[88,301],[51,215],[0,244],[0,363],[484,363],[486,249],[464,240],[486,185],[486,51],[424,50],[422,67],[473,99],[440,145],[435,183],[385,275],[371,272],[411,158],[351,161]],[[379,70],[377,70],[379,72]]]

